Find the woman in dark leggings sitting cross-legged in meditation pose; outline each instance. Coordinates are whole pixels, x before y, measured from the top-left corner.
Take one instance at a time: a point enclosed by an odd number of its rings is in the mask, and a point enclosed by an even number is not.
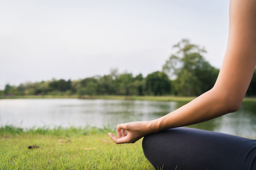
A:
[[[117,126],[115,143],[141,137],[146,158],[156,169],[256,170],[256,140],[193,128],[240,108],[256,66],[256,0],[231,0],[229,39],[213,88],[152,121]],[[166,130],[167,129],[167,130]]]

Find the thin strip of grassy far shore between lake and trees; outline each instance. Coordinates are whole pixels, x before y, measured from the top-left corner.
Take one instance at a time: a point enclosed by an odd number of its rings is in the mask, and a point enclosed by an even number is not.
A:
[[[117,100],[149,100],[163,102],[190,102],[196,97],[178,97],[178,96],[120,96],[120,95],[94,95],[81,96],[78,95],[16,95],[16,96],[0,96],[0,99],[117,99]],[[256,102],[256,97],[245,97],[243,102]]]

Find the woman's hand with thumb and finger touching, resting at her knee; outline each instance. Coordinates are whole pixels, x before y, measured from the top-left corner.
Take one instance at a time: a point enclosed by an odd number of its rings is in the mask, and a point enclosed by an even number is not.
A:
[[[150,124],[148,121],[135,121],[117,125],[117,137],[108,133],[116,144],[135,143],[141,137],[150,134]]]

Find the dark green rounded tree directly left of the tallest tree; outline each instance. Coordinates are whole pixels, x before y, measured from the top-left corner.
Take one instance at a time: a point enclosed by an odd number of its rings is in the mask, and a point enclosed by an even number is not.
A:
[[[164,72],[156,71],[148,74],[145,84],[149,95],[167,95],[171,93],[171,81]]]

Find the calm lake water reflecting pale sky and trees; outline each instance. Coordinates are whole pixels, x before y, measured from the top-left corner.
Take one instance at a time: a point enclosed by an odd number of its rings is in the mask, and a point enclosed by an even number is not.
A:
[[[156,119],[184,104],[104,99],[1,99],[0,126],[114,128],[119,123]],[[256,102],[243,103],[235,113],[190,127],[256,138]]]

